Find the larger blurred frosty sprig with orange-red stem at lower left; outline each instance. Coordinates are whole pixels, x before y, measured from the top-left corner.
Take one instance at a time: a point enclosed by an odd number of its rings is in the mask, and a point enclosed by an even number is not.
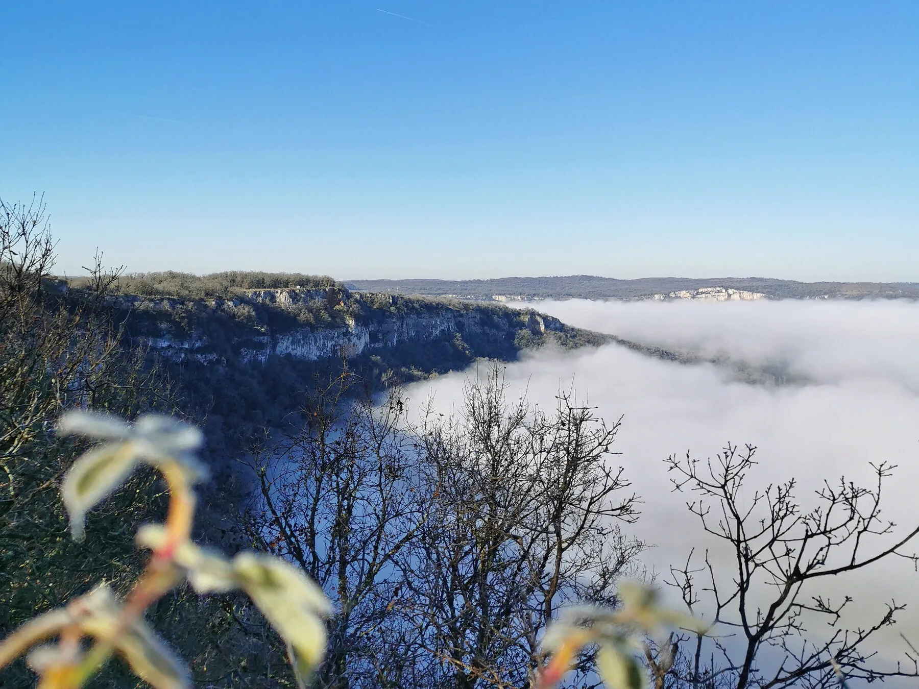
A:
[[[62,435],[103,441],[79,457],[62,482],[62,498],[75,539],[84,535],[85,514],[117,491],[142,463],[164,476],[169,511],[162,525],[144,525],[137,543],[153,554],[124,601],[106,584],[61,608],[28,621],[0,643],[0,668],[28,652],[29,666],[43,689],[76,689],[118,654],[155,689],[190,686],[185,664],[148,627],[144,611],[187,580],[198,593],[243,590],[289,647],[302,685],[323,660],[323,616],[331,604],[322,589],[287,561],[243,552],[233,559],[199,548],[190,539],[195,483],[207,477],[196,451],[199,429],[169,416],[148,414],[135,424],[99,413],[68,412],[58,424]],[[49,639],[57,638],[57,641]],[[92,644],[85,649],[84,638]],[[30,652],[29,652],[30,651]]]

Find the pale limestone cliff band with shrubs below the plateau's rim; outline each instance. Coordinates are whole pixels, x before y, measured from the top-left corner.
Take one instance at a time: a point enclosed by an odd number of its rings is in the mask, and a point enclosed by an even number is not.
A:
[[[196,301],[128,296],[119,297],[117,305],[155,316],[155,323],[148,319],[146,327],[136,333],[153,352],[175,362],[208,364],[225,362],[227,356],[260,363],[272,356],[304,361],[355,358],[403,345],[454,341],[463,346],[504,343],[513,349],[521,342],[520,333],[527,334],[525,345],[529,346],[540,342],[546,333],[574,332],[558,319],[535,311],[351,293],[342,288],[260,289],[237,299]],[[328,314],[328,322],[296,322],[297,315],[310,308],[310,312]],[[167,317],[170,311],[176,314],[175,322]],[[185,320],[190,318],[190,327],[176,327],[179,314],[189,313],[192,317],[185,316]],[[244,315],[247,322],[242,320]],[[213,322],[218,321],[229,326],[215,330]],[[154,324],[157,333],[150,332]],[[475,356],[491,355],[484,352]]]

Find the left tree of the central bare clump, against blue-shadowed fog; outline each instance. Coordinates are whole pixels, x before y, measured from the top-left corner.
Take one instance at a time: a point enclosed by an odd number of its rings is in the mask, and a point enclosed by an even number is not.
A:
[[[328,687],[386,684],[387,660],[405,646],[392,615],[396,558],[425,520],[397,432],[403,402],[393,393],[375,409],[369,395],[355,395],[357,383],[345,370],[317,386],[301,429],[251,463],[251,537],[301,567],[335,603],[316,678]]]

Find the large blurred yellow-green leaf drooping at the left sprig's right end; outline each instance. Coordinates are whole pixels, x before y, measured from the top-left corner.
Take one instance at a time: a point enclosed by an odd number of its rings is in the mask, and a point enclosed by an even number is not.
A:
[[[233,559],[240,584],[272,627],[296,652],[296,665],[308,674],[323,660],[325,625],[332,612],[323,590],[283,559],[240,553]]]

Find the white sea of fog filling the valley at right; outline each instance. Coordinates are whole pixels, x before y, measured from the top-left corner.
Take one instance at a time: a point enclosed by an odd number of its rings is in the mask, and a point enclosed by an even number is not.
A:
[[[898,465],[885,485],[886,516],[898,531],[919,524],[919,303],[907,301],[602,302],[573,299],[531,305],[570,325],[614,333],[641,344],[729,356],[780,366],[785,385],[751,384],[725,367],[686,365],[644,356],[618,344],[574,352],[542,351],[506,367],[515,392],[554,406],[558,390],[575,389],[610,422],[623,416],[610,461],[626,469],[643,501],[626,531],[652,544],[644,564],[663,580],[692,548],[712,549],[725,578],[731,559],[686,511],[686,493],[671,489],[664,459],[705,459],[727,443],[758,447],[746,495],[766,484],[798,480],[814,503],[823,480],[870,482],[872,462]],[[415,401],[433,394],[441,409],[459,402],[474,371],[419,383]],[[919,551],[919,541],[914,545]],[[912,551],[912,550],[911,550]],[[879,638],[884,655],[904,649],[898,632],[919,641],[919,574],[905,559],[821,582],[820,593],[845,594],[851,624],[867,624],[895,598],[909,607]],[[815,625],[813,633],[827,627]]]

